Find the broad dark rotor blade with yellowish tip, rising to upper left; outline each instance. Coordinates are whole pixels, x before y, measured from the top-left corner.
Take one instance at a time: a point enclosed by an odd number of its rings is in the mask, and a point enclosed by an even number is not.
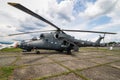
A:
[[[31,10],[27,9],[26,7],[24,7],[23,5],[21,5],[19,3],[11,3],[11,2],[8,2],[8,4],[13,6],[13,7],[16,7],[16,8],[18,8],[18,9],[20,9],[20,10],[22,10],[22,11],[24,11],[24,12],[26,12],[26,13],[28,13],[28,14],[30,14],[30,15],[32,15],[32,16],[34,16],[34,17],[36,17],[36,18],[38,18],[38,19],[40,19],[42,21],[44,21],[44,22],[46,22],[46,23],[48,23],[49,25],[55,27],[57,30],[60,30],[60,28],[57,27],[55,24],[53,24],[50,21],[46,20],[42,16],[32,12]]]

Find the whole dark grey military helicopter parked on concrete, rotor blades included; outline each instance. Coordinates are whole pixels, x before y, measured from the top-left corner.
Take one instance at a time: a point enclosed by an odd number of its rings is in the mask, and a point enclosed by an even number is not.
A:
[[[101,32],[101,31],[87,31],[87,30],[67,30],[67,29],[61,29],[55,24],[51,23],[50,21],[46,20],[42,16],[34,13],[33,11],[29,10],[28,8],[24,7],[23,5],[19,3],[12,3],[8,2],[9,5],[18,8],[22,10],[23,12],[26,12],[45,23],[53,26],[56,28],[56,30],[46,30],[46,31],[34,31],[34,32],[25,32],[25,33],[17,33],[17,34],[10,34],[8,36],[14,36],[14,35],[22,35],[22,34],[29,34],[29,33],[36,33],[36,32],[47,32],[52,31],[51,33],[42,33],[39,36],[39,39],[32,38],[30,41],[21,41],[20,43],[16,44],[16,47],[19,47],[23,49],[23,51],[30,52],[32,50],[36,50],[36,53],[40,53],[40,51],[37,51],[37,49],[46,49],[46,50],[56,50],[56,51],[66,51],[68,54],[71,54],[71,50],[78,51],[79,47],[87,47],[87,46],[100,46],[100,41],[104,39],[105,34],[116,34],[112,32]],[[84,41],[84,40],[78,40],[75,39],[73,36],[68,35],[64,31],[69,32],[89,32],[89,33],[102,33],[104,36],[100,36],[96,42],[91,41]]]

